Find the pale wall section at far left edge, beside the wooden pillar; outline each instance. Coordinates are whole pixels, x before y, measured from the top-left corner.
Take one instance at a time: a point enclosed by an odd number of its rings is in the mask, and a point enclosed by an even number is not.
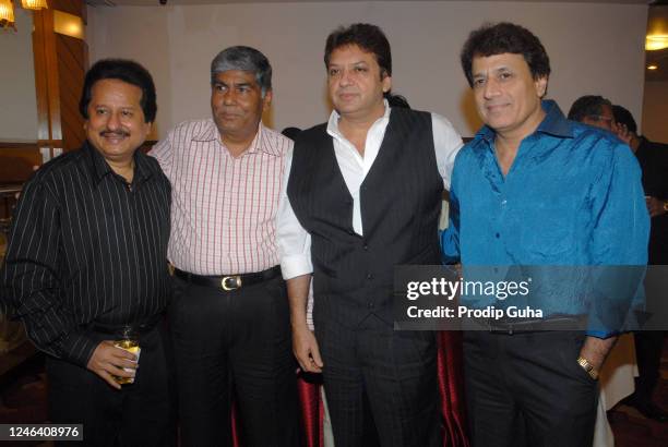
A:
[[[37,140],[33,14],[14,7],[16,33],[0,31],[0,141]]]

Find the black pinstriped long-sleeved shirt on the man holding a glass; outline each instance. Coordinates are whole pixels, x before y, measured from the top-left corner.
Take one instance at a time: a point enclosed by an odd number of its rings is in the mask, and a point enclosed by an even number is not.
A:
[[[43,351],[85,366],[91,323],[162,312],[169,297],[169,181],[135,153],[132,184],[90,144],[25,184],[0,274],[2,300]]]

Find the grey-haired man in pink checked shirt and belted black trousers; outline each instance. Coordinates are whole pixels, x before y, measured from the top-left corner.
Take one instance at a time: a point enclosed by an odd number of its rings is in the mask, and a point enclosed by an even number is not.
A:
[[[177,125],[151,152],[172,184],[169,261],[181,444],[299,445],[289,310],[275,243],[293,142],[265,128],[272,68],[230,47],[211,64],[213,119]],[[231,384],[231,386],[230,386]]]

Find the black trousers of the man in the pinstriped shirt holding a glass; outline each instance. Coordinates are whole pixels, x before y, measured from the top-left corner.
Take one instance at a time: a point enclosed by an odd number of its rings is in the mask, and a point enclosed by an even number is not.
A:
[[[95,335],[99,341],[112,339]],[[174,392],[168,343],[162,325],[140,338],[140,367],[134,383],[111,388],[93,372],[47,358],[49,420],[83,424],[82,442],[59,446],[163,447],[176,444]]]

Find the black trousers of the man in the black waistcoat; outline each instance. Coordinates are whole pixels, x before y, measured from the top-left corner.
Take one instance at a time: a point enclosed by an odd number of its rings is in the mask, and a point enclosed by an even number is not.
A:
[[[315,336],[336,447],[367,447],[365,397],[381,446],[442,446],[433,333],[370,315],[356,328],[319,319]]]

